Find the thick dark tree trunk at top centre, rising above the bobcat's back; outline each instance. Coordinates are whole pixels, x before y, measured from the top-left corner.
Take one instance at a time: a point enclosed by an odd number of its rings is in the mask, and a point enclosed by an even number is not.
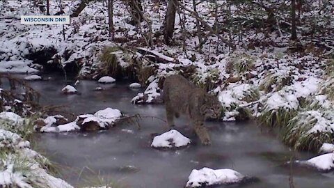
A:
[[[176,13],[176,2],[177,0],[168,1],[167,12],[165,16],[164,25],[164,40],[166,45],[170,45],[170,39],[173,38],[174,25],[175,25],[175,13]]]

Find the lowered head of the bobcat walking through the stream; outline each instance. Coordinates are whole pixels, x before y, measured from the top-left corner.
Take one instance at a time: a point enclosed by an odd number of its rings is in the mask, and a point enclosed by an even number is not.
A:
[[[202,102],[200,112],[205,116],[205,118],[216,119],[221,116],[221,110],[223,107],[216,96],[205,93]]]

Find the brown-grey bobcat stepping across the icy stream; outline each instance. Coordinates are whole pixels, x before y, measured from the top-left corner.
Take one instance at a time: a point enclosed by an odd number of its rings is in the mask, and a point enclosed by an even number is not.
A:
[[[206,118],[220,116],[221,103],[217,97],[209,95],[204,89],[196,87],[181,75],[170,75],[164,81],[164,101],[167,123],[170,127],[174,126],[174,116],[178,118],[180,113],[188,115],[202,144],[211,144],[203,122]]]

